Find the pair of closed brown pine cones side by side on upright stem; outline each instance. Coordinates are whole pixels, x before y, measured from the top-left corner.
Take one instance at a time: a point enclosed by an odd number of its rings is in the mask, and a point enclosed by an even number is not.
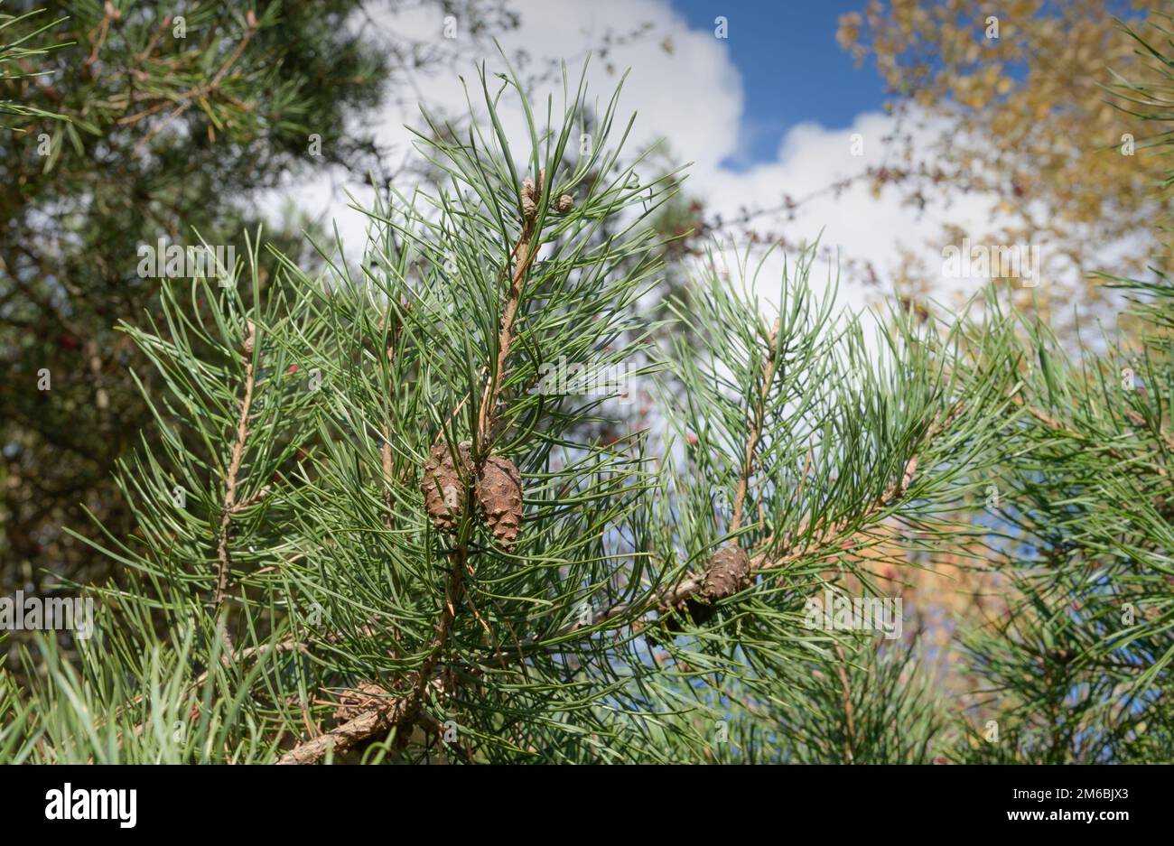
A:
[[[432,447],[424,465],[424,479],[420,482],[424,508],[432,524],[447,534],[457,530],[465,512],[467,481],[474,475],[471,449],[468,441],[457,448],[460,461],[458,466],[448,446],[438,444]],[[502,549],[513,551],[521,534],[521,473],[510,459],[490,455],[475,475],[474,495],[485,524]]]

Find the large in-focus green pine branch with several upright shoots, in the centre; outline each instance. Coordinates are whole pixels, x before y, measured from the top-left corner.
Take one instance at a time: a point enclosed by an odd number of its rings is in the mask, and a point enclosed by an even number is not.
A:
[[[245,747],[304,764],[389,735],[400,751],[426,752],[447,735],[441,722],[463,736],[443,747],[452,760],[716,760],[726,753],[703,750],[706,715],[731,708],[749,719],[751,709],[818,699],[841,727],[828,739],[804,725],[805,751],[787,754],[877,759],[883,742],[870,732],[893,730],[862,702],[857,658],[843,651],[837,670],[818,642],[846,650],[846,638],[792,637],[795,603],[826,569],[853,570],[852,551],[879,543],[889,520],[926,527],[904,539],[906,549],[944,537],[930,523],[974,486],[969,474],[989,446],[983,412],[1004,394],[976,374],[973,413],[953,427],[971,400],[958,395],[962,378],[935,372],[935,357],[950,352],[930,337],[886,337],[892,354],[864,372],[859,324],[837,326],[830,305],[810,295],[807,253],[797,273],[781,277],[772,325],[757,297],[731,291],[713,270],[697,283],[702,302],[675,309],[695,341],[654,351],[639,304],[662,245],[645,203],[655,210],[674,183],[637,190],[633,165],[601,143],[612,106],[592,151],[565,161],[581,128],[575,106],[558,129],[539,130],[527,111],[526,172],[538,185],[521,180],[519,196],[518,156],[497,119],[501,93],[483,87],[492,131],[474,122],[465,142],[426,117],[421,147],[445,189],[377,201],[363,278],[337,258],[340,245],[318,248],[319,276],[279,257],[264,310],[201,285],[194,299],[208,313],[189,313],[180,286],[168,287],[163,329],[131,332],[163,374],[166,391],[148,401],[164,448],[123,476],[142,530],[133,547],[110,539],[136,573],[112,593],[129,621],[115,661],[142,681],[134,656],[157,644],[146,623],[164,609],[197,632],[182,662],[191,670],[166,708],[190,706],[193,684],[215,686],[248,719],[227,720],[211,746],[181,749],[161,733],[154,702],[149,718],[128,722],[141,688],[80,701],[121,715],[108,733],[129,756]],[[245,360],[243,386],[241,366],[223,364],[239,354],[230,347],[242,323],[247,347],[265,338],[263,357],[257,354]],[[209,345],[214,358],[203,356]],[[546,375],[555,361],[571,365],[558,384]],[[663,440],[623,433],[628,417],[575,375],[596,365],[627,372],[633,361],[676,380],[656,410],[670,427]],[[432,463],[416,468],[438,444],[465,486],[460,513],[440,517],[421,483]],[[475,485],[491,461],[526,480],[517,515],[525,530],[508,543],[479,519],[488,509]],[[177,481],[198,492],[196,508],[158,507]],[[209,524],[207,509],[218,522]],[[187,587],[198,584],[193,562],[209,541],[210,615],[207,594]],[[702,556],[707,570],[691,571]],[[728,562],[720,573],[718,557]],[[241,582],[236,600],[231,580]],[[657,642],[646,629],[669,629],[682,605],[707,614],[664,644],[672,662],[649,662]],[[269,642],[238,649],[248,644],[225,637],[229,616],[237,638],[265,632]],[[782,699],[768,686],[814,672],[824,674],[818,683],[788,683]],[[688,681],[701,674],[737,701],[703,702]],[[918,723],[917,737],[923,727],[927,737],[932,726]],[[893,744],[893,754],[916,757]],[[96,746],[90,756],[109,757]]]

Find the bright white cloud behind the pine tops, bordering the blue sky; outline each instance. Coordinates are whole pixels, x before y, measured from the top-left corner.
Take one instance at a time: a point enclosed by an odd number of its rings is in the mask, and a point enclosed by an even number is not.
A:
[[[605,56],[594,59],[589,74],[592,89],[596,96],[606,97],[619,73],[630,67],[621,100],[622,116],[637,113],[630,143],[645,144],[662,136],[677,160],[693,163],[687,191],[701,197],[707,209],[726,219],[735,217],[743,207],[777,207],[784,194],[804,197],[885,158],[882,140],[891,133],[893,119],[868,113],[858,115],[846,129],[829,130],[815,122],[795,126],[782,140],[775,161],[738,172],[723,169],[720,163],[743,149],[737,133],[745,124],[742,80],[730,59],[729,41],[715,38],[711,29],[689,29],[666,0],[591,4],[522,0],[513,6],[521,23],[501,38],[507,54],[525,48],[535,60],[567,59],[572,74],[578,73],[586,52],[598,46],[606,32],[623,34],[645,22],[654,25],[653,35],[612,46]],[[397,35],[439,39],[441,18],[439,9],[413,8],[405,14],[384,12],[376,25]],[[500,67],[492,43],[478,45],[464,34],[459,39],[460,66],[418,81],[419,95],[430,108],[463,110],[465,95],[458,74],[472,86],[477,79],[475,62],[484,59],[491,69]],[[672,50],[662,48],[662,43],[672,45]],[[811,80],[795,80],[788,84],[811,83]],[[549,93],[555,95],[558,109],[561,90]],[[405,123],[419,124],[414,108],[386,108],[378,116],[380,143],[406,150],[411,135]],[[512,137],[525,138],[520,110],[507,111],[505,124]],[[859,157],[850,155],[851,136],[856,133],[864,138],[864,155]],[[333,217],[350,251],[362,245],[366,224],[359,212],[346,208],[349,199],[343,188],[336,176],[286,185],[284,190],[303,208],[324,210],[328,217]],[[348,188],[359,202],[370,197],[364,187]],[[989,226],[983,224],[989,223],[991,208],[990,198],[967,195],[953,202],[950,219],[976,232],[986,231]],[[838,197],[822,196],[804,203],[795,221],[774,225],[768,221],[763,228],[785,235],[791,243],[811,241],[822,230],[823,245],[844,257],[872,262],[884,278],[898,262],[900,245],[917,250],[929,268],[940,262],[942,244],[926,246],[931,238],[940,242],[938,211],[939,208],[931,205],[919,216],[902,203],[898,191],[890,190],[876,198],[861,183]],[[859,307],[863,292],[849,285],[842,292],[842,300]]]

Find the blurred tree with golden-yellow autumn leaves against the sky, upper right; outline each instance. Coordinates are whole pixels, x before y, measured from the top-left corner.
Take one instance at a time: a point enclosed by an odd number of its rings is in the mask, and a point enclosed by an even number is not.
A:
[[[866,177],[876,191],[892,187],[923,207],[931,196],[991,196],[1005,223],[962,232],[946,219],[944,243],[965,235],[1040,244],[1044,283],[1016,299],[1071,336],[1073,309],[1093,313],[1105,299],[1089,275],[1107,265],[1141,273],[1167,239],[1153,221],[1168,201],[1152,188],[1168,162],[1141,143],[1152,129],[1128,97],[1106,88],[1122,76],[1140,88],[1159,80],[1146,49],[1113,20],[1143,26],[1166,8],[1160,0],[869,0],[841,18],[838,39],[858,62],[875,62],[900,121],[886,138],[889,160]],[[895,285],[925,297],[937,270],[910,256]]]

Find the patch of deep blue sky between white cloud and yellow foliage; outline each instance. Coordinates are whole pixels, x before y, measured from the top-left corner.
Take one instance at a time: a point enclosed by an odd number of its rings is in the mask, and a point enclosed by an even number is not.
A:
[[[839,15],[864,0],[672,0],[691,29],[713,32],[729,20],[729,56],[742,74],[745,114],[742,150],[723,164],[745,169],[774,161],[787,130],[803,121],[848,127],[862,111],[884,103],[879,76],[857,68],[836,43]]]

